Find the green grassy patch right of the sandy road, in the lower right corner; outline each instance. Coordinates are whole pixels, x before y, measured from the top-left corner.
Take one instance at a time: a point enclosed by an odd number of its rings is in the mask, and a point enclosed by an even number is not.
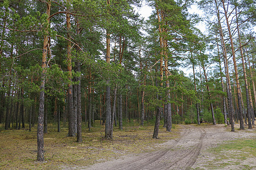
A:
[[[206,164],[207,168],[225,169],[239,167],[240,169],[254,169],[250,166],[256,158],[256,139],[237,139],[225,142],[218,147],[210,148],[215,159]],[[251,162],[251,163],[250,163]],[[246,164],[245,164],[246,163]]]

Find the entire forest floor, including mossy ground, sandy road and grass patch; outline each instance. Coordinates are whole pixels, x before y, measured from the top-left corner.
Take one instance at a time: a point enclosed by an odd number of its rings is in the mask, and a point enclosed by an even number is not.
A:
[[[174,125],[171,133],[154,126],[127,124],[115,128],[113,140],[104,139],[98,122],[82,129],[83,142],[56,132],[44,135],[45,162],[36,161],[36,126],[32,131],[0,127],[0,169],[255,169],[256,133],[231,132],[226,125]]]

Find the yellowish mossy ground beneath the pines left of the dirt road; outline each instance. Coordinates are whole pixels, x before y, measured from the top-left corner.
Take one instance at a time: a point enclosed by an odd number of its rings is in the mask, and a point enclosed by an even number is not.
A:
[[[163,125],[162,125],[163,126]],[[160,127],[162,127],[160,126]],[[26,125],[28,127],[28,125]],[[139,154],[156,149],[157,143],[163,143],[179,136],[179,126],[172,132],[159,129],[159,139],[153,139],[154,125],[147,123],[139,126],[137,122],[124,124],[123,130],[114,128],[113,140],[104,139],[105,126],[96,121],[88,131],[83,123],[82,143],[76,137],[67,137],[68,129],[49,124],[44,134],[44,156],[46,162],[36,161],[36,125],[32,131],[3,130],[0,127],[0,169],[59,169],[77,167],[103,162],[122,155]]]

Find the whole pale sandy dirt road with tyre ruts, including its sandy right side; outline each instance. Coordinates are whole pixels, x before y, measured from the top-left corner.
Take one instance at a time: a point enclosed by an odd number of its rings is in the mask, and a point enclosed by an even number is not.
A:
[[[246,130],[230,132],[229,129],[224,125],[181,125],[180,138],[159,145],[157,151],[129,155],[81,169],[205,169],[205,163],[213,156],[205,151],[208,148],[239,138],[255,139],[255,133],[246,133]]]

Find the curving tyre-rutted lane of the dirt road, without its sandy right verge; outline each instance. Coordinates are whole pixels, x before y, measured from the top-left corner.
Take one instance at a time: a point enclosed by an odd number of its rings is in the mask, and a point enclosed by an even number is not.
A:
[[[161,149],[139,156],[92,165],[88,169],[186,169],[195,164],[205,137],[205,130],[182,125],[181,137],[164,143]]]

